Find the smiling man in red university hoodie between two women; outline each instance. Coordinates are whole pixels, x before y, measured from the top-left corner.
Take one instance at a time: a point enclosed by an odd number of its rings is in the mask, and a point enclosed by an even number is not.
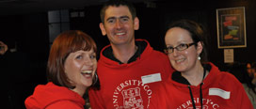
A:
[[[110,45],[104,47],[97,73],[101,89],[89,90],[92,109],[146,109],[159,83],[173,71],[166,54],[135,39],[136,9],[127,1],[110,0],[101,10],[100,28]]]

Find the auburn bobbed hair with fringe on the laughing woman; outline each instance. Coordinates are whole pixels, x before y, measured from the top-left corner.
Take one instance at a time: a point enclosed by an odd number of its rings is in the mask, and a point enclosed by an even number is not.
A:
[[[66,86],[74,88],[69,78],[64,72],[64,64],[69,54],[76,51],[93,51],[96,53],[97,47],[93,39],[88,34],[80,30],[65,31],[54,40],[47,63],[47,79],[56,86]]]

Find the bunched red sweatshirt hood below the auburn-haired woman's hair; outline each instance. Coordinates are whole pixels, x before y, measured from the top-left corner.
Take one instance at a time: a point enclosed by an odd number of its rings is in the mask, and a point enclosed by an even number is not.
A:
[[[85,100],[79,94],[65,86],[56,86],[52,82],[36,86],[33,95],[29,96],[24,103],[28,109],[44,109],[56,101],[73,101],[79,103],[78,105],[85,105]]]

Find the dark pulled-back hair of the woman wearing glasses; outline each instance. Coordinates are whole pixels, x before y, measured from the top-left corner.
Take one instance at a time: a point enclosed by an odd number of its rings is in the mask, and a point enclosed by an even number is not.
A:
[[[170,29],[172,27],[180,27],[180,28],[187,30],[190,33],[191,39],[193,39],[193,41],[196,42],[196,46],[198,46],[198,42],[201,42],[203,49],[200,54],[200,57],[201,57],[200,61],[203,63],[208,62],[207,48],[206,48],[207,35],[205,33],[203,26],[200,23],[196,23],[191,20],[179,20],[179,21],[170,23],[168,25],[168,29]],[[168,29],[167,29],[167,31],[168,31]]]

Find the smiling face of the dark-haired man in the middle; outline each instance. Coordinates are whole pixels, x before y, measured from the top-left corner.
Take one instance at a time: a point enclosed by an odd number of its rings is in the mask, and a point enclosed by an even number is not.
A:
[[[133,20],[126,6],[112,7],[105,10],[104,23],[100,23],[103,35],[107,35],[111,44],[125,44],[135,40],[135,30],[138,29],[138,19]]]

